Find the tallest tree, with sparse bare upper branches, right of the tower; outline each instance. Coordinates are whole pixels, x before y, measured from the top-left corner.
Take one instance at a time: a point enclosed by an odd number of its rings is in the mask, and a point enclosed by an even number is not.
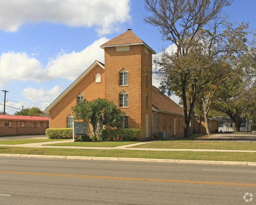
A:
[[[157,26],[173,49],[154,59],[161,90],[178,95],[184,110],[184,137],[189,137],[196,99],[205,86],[228,73],[239,73],[234,57],[245,49],[247,24],[233,28],[222,9],[233,0],[145,0]],[[223,31],[223,28],[226,30]],[[227,67],[219,66],[226,63]],[[232,65],[231,65],[232,63]],[[221,68],[221,69],[220,69]]]

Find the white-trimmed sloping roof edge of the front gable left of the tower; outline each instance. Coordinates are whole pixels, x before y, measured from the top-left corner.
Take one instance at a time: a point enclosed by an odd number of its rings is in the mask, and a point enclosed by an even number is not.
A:
[[[45,113],[49,113],[50,109],[53,108],[72,88],[74,88],[95,66],[100,66],[105,70],[104,64],[99,61],[94,61],[89,68],[87,68],[82,75],[80,75],[66,90],[64,90],[46,109]]]

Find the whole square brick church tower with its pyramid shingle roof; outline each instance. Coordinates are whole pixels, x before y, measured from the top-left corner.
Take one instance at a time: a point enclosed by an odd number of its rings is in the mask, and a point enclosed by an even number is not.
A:
[[[118,105],[124,128],[152,138],[152,54],[131,29],[100,46],[105,51],[105,98]]]

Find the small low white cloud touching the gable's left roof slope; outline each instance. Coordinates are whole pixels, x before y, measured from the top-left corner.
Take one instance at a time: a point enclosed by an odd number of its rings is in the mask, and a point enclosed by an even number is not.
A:
[[[25,88],[22,92],[22,95],[32,102],[41,102],[44,104],[44,107],[47,107],[45,104],[50,104],[55,98],[57,98],[63,90],[55,85],[51,90],[45,90],[44,88],[35,89],[35,88]]]

